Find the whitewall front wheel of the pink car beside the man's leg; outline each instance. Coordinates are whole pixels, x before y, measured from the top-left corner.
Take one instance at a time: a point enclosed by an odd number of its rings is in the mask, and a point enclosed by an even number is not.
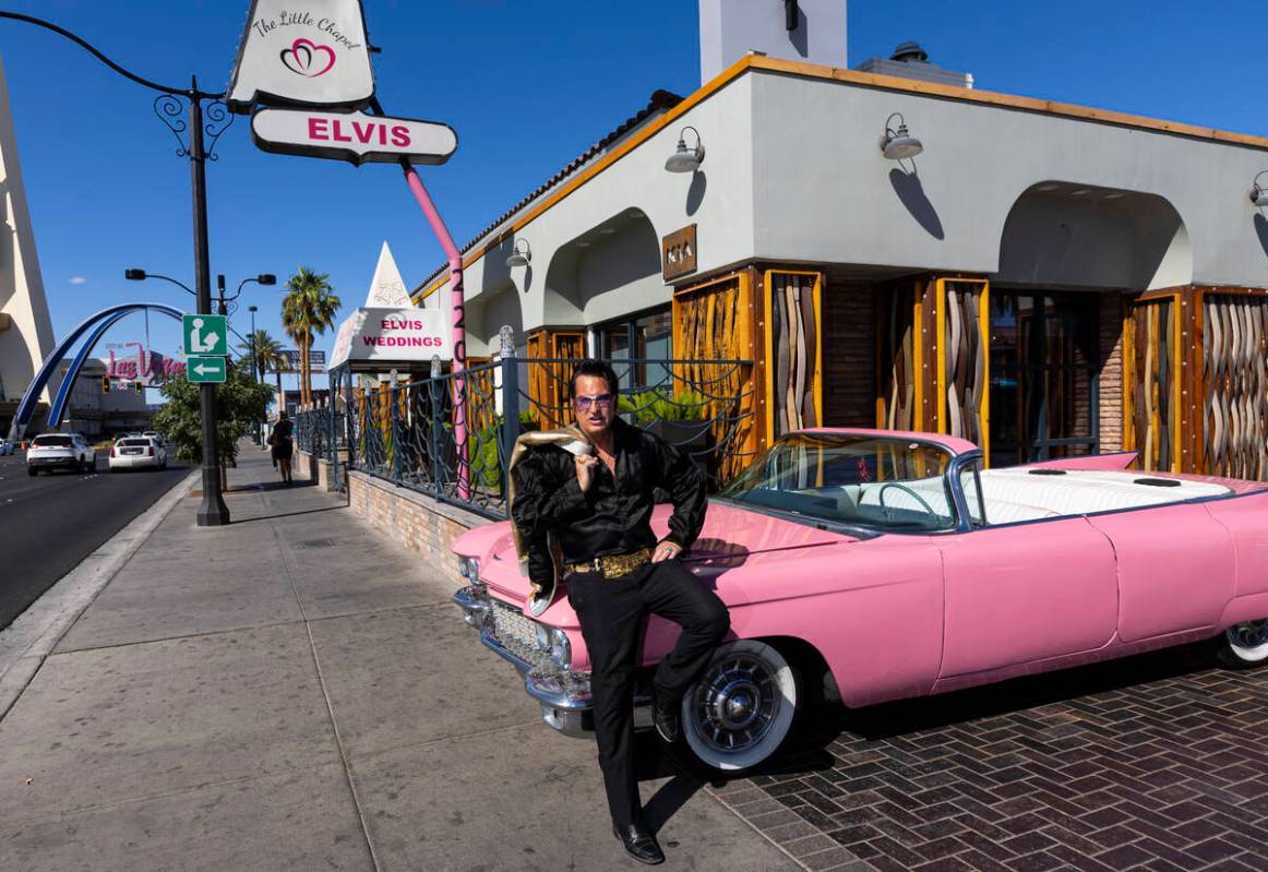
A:
[[[800,702],[796,673],[753,639],[723,645],[682,700],[682,734],[705,766],[739,772],[768,759],[787,738]]]

